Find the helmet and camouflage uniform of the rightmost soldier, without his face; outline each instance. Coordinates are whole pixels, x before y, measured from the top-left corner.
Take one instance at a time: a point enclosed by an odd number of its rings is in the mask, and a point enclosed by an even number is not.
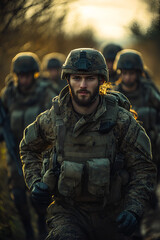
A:
[[[160,110],[160,94],[156,86],[151,80],[143,77],[144,64],[139,52],[134,50],[123,50],[118,53],[115,60],[115,68],[117,70],[135,70],[137,71],[137,88],[134,91],[126,92],[123,90],[123,79],[114,89],[123,93],[131,102],[132,108],[138,113],[138,119],[145,128],[152,143],[153,160],[158,167],[159,174],[159,110]],[[138,72],[139,71],[139,72]],[[121,76],[120,76],[121,78]],[[147,223],[150,219],[152,206],[155,205],[155,199],[152,200],[152,205],[147,209],[143,222]],[[139,239],[141,239],[139,237]]]

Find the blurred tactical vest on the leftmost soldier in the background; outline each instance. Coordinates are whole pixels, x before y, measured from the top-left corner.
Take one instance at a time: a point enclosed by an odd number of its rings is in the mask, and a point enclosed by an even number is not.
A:
[[[12,84],[8,89],[7,108],[10,126],[17,144],[23,136],[23,130],[32,123],[38,114],[45,110],[45,94],[47,85],[38,84],[32,94],[22,95]]]

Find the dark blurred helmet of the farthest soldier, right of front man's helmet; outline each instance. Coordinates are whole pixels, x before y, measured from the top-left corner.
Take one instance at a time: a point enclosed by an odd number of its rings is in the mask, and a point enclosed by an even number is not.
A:
[[[106,61],[114,61],[117,53],[122,50],[122,47],[117,44],[107,44],[106,46],[103,47],[102,53],[106,59]]]

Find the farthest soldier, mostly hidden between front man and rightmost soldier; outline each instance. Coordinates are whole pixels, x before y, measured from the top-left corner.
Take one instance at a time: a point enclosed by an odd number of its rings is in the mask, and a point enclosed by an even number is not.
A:
[[[115,60],[115,57],[119,51],[122,50],[122,47],[117,44],[107,44],[103,49],[102,53],[106,59],[107,66],[109,68],[109,80],[112,84],[114,84],[118,80],[118,74],[113,69],[113,63]]]

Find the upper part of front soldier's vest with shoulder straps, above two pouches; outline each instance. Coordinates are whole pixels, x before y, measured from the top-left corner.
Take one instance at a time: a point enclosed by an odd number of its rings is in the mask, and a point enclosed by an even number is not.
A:
[[[98,113],[98,118],[86,120],[81,117],[74,127],[66,126],[60,112],[57,99],[53,101],[56,125],[57,161],[85,163],[92,158],[115,157],[116,139],[113,133],[117,121],[118,101],[109,94],[105,97],[105,109]]]

